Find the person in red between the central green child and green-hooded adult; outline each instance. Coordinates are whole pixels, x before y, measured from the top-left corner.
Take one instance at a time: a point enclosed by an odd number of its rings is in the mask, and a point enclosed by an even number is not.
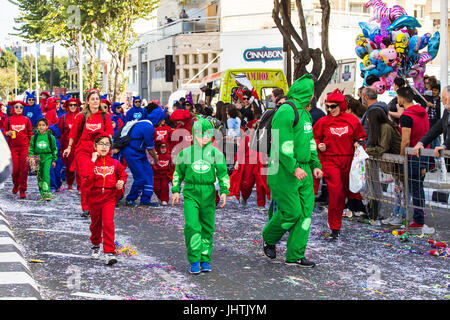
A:
[[[256,120],[252,120],[247,124],[249,130],[253,130]],[[253,186],[256,183],[256,199],[259,210],[264,210],[266,206],[266,196],[270,200],[270,190],[267,186],[267,176],[261,173],[264,168],[263,163],[267,163],[264,156],[257,151],[250,149],[251,131],[242,139],[239,144],[234,171],[230,176],[230,194],[238,200],[242,193],[242,205],[247,205]]]

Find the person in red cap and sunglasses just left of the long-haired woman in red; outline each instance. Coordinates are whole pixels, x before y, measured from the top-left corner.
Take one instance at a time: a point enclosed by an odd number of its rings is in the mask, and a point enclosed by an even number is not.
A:
[[[61,131],[61,150],[66,150],[70,140],[70,130],[75,122],[75,117],[80,112],[81,101],[78,99],[69,99],[64,102],[64,108],[67,110],[65,114],[59,118],[59,130]],[[67,190],[73,189],[73,182],[75,181],[75,171],[70,170],[74,160],[74,152],[71,152],[68,157],[62,158],[63,164],[66,166],[66,182]]]

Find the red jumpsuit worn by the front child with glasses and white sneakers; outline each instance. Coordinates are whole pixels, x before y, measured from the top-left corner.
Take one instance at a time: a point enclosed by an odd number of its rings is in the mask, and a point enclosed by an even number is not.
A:
[[[116,202],[123,195],[123,189],[117,190],[117,181],[127,182],[125,167],[110,155],[89,160],[85,164],[89,172],[83,184],[83,189],[89,193],[88,205],[91,216],[91,242],[94,246],[102,243],[105,253],[116,253],[114,245],[114,209]]]

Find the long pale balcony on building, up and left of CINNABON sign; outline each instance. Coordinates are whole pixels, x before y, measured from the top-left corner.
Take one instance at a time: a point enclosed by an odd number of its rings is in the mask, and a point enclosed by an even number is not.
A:
[[[135,47],[145,43],[160,41],[178,34],[218,31],[220,31],[220,17],[180,19],[150,32],[140,34],[139,41],[136,42]]]

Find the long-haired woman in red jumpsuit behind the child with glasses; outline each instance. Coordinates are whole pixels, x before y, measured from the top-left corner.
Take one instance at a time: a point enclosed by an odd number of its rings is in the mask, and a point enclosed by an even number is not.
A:
[[[86,105],[83,112],[80,112],[70,129],[69,144],[63,152],[63,158],[67,158],[71,152],[74,152],[74,161],[70,166],[71,171],[75,171],[77,185],[81,193],[82,217],[89,215],[89,206],[87,201],[87,192],[83,188],[83,179],[89,174],[89,163],[92,152],[93,142],[99,133],[106,133],[112,137],[114,129],[111,118],[108,114],[102,113],[100,107],[100,94],[96,90],[91,90],[86,96]],[[72,150],[74,147],[74,150]]]

